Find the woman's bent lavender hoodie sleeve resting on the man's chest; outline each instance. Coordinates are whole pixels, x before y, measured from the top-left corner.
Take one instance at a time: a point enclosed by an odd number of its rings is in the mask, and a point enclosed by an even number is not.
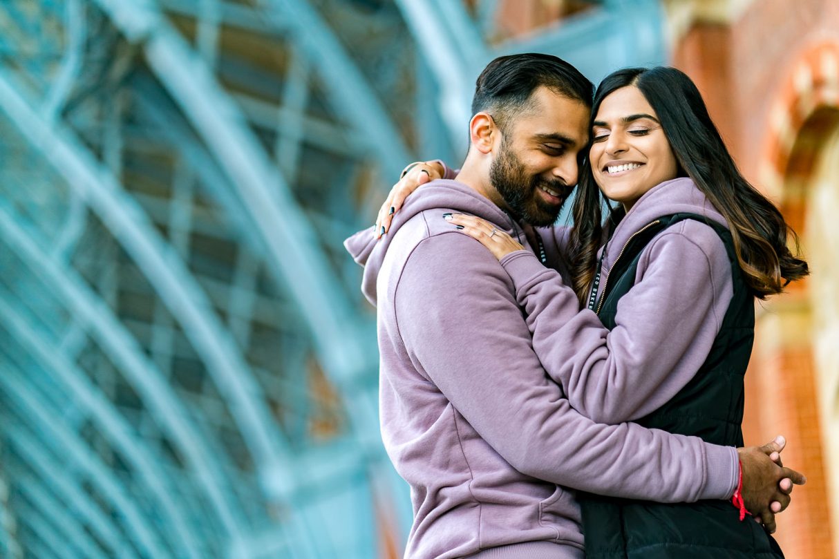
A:
[[[684,388],[711,351],[732,298],[725,247],[711,227],[694,222],[644,249],[611,332],[594,312],[576,311],[571,289],[529,253],[502,263],[548,373],[576,410],[603,423],[644,417]]]

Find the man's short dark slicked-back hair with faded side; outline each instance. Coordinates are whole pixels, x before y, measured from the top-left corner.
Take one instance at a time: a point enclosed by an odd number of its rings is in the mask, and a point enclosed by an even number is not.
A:
[[[539,86],[591,107],[594,85],[579,70],[553,55],[525,53],[499,56],[483,69],[475,82],[472,115],[490,113],[504,132],[511,116],[529,108]]]

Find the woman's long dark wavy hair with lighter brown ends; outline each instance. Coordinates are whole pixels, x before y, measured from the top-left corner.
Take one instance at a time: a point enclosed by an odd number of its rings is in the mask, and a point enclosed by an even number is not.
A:
[[[778,208],[737,170],[693,81],[683,72],[664,66],[615,71],[597,86],[592,122],[603,99],[626,86],[638,87],[658,115],[679,165],[679,175],[693,179],[726,218],[737,261],[753,294],[765,299],[807,275],[807,263],[797,255],[798,237]],[[574,227],[569,243],[574,290],[584,304],[597,272],[597,249],[605,240],[604,200],[586,157],[572,210]],[[609,212],[610,229],[624,213],[623,206]],[[796,254],[787,246],[788,237]]]

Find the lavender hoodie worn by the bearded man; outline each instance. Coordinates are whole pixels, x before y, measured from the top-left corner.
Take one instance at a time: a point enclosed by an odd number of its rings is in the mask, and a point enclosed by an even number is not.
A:
[[[571,488],[662,502],[732,494],[733,449],[574,410],[534,353],[510,276],[445,212],[483,217],[527,245],[454,180],[410,196],[381,241],[365,230],[345,243],[378,307],[382,437],[414,505],[406,557],[497,546],[480,556],[579,557]]]

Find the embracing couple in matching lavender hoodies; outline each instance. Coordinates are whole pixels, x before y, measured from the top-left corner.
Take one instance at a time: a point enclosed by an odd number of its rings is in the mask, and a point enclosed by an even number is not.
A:
[[[783,437],[743,447],[743,375],[754,298],[807,266],[687,76],[593,89],[555,56],[493,60],[461,169],[409,165],[345,243],[409,559],[783,556],[805,480]]]

